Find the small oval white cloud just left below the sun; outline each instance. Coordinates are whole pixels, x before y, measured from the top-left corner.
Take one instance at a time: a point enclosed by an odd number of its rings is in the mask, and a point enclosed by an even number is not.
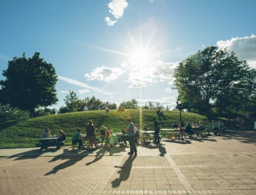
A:
[[[85,74],[85,78],[88,80],[99,80],[99,81],[113,81],[119,77],[123,73],[123,69],[119,67],[96,67],[89,74]]]

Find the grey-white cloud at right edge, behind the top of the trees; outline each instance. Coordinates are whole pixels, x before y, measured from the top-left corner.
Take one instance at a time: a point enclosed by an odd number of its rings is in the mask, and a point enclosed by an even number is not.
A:
[[[236,37],[230,40],[219,40],[220,48],[227,48],[228,52],[236,52],[240,60],[246,60],[251,67],[256,68],[256,36]]]

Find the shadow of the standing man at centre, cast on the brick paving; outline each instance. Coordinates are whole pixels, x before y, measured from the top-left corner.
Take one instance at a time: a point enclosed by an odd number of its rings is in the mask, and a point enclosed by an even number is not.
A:
[[[119,178],[116,178],[111,182],[113,188],[118,187],[121,181],[126,181],[129,178],[130,171],[132,170],[133,161],[135,158],[136,156],[130,155],[122,166],[114,166],[115,168],[120,168],[121,170],[117,172],[119,173]]]

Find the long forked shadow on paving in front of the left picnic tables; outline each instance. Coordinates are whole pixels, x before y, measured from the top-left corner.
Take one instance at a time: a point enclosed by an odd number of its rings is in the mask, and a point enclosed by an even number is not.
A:
[[[65,155],[65,153],[68,152],[67,150],[68,150],[68,149],[64,149],[64,150],[63,150],[63,154],[60,154],[60,155],[54,157],[51,161],[49,161],[49,163],[50,163],[50,162],[57,161],[58,159],[67,160],[67,161],[65,161],[64,163],[61,163],[61,164],[55,166],[51,171],[45,173],[45,176],[48,176],[48,175],[51,175],[51,174],[55,174],[55,173],[57,173],[59,170],[62,170],[62,169],[66,169],[66,168],[68,168],[69,166],[72,166],[72,165],[74,165],[75,163],[81,161],[83,158],[85,158],[85,157],[87,156],[87,154],[83,154],[83,153],[78,154],[79,156],[74,156],[74,155],[73,155],[73,156],[67,156],[67,155]],[[68,153],[68,154],[69,154],[69,153]]]

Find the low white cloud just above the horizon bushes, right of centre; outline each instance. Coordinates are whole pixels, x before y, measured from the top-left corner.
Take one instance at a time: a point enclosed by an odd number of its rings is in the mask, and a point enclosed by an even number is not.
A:
[[[169,108],[174,108],[176,106],[176,101],[177,98],[175,96],[168,96],[168,97],[163,97],[163,98],[158,98],[158,99],[138,99],[137,100],[139,105],[143,106],[148,104],[149,102],[156,103],[160,102],[161,105],[164,107],[168,106]]]

